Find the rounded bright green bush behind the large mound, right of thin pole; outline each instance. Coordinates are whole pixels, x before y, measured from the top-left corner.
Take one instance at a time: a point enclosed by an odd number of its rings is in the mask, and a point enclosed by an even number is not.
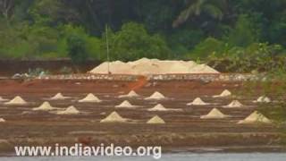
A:
[[[141,57],[167,58],[169,48],[159,35],[149,35],[142,24],[129,22],[122,30],[109,35],[113,60],[135,60]]]

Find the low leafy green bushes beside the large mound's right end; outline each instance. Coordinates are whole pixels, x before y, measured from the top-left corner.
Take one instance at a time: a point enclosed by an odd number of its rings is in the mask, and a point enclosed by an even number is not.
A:
[[[284,68],[286,57],[279,45],[254,43],[231,47],[222,56],[211,55],[208,64],[224,72],[273,72]]]

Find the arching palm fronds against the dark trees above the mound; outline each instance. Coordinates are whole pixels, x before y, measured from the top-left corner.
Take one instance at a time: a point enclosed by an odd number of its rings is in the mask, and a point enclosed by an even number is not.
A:
[[[173,28],[180,26],[192,16],[199,16],[201,13],[206,13],[214,19],[222,20],[227,0],[188,0],[186,4],[188,7],[172,22]]]

